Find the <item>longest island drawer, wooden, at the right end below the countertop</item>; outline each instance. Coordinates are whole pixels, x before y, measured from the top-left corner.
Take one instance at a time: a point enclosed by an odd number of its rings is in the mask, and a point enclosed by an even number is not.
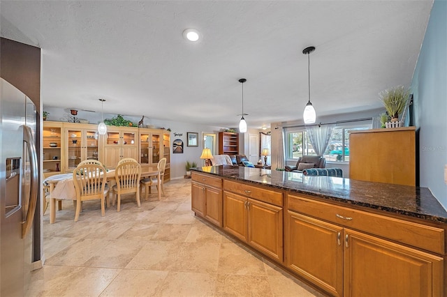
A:
[[[288,209],[314,218],[444,254],[444,229],[288,195]]]

